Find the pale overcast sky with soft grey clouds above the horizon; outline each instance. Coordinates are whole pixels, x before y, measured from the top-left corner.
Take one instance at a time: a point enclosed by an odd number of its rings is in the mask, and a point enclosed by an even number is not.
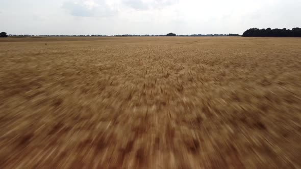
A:
[[[301,0],[0,0],[8,34],[242,34],[301,27],[300,16]]]

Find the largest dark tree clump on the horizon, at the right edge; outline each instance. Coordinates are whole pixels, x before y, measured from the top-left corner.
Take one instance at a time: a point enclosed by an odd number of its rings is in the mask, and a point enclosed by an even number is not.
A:
[[[292,30],[284,29],[258,29],[252,28],[246,30],[243,37],[301,37],[301,29],[295,27]]]

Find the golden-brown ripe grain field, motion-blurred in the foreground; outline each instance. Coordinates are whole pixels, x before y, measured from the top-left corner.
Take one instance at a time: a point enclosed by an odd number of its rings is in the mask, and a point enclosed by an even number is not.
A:
[[[301,38],[2,38],[0,63],[0,168],[301,168]]]

